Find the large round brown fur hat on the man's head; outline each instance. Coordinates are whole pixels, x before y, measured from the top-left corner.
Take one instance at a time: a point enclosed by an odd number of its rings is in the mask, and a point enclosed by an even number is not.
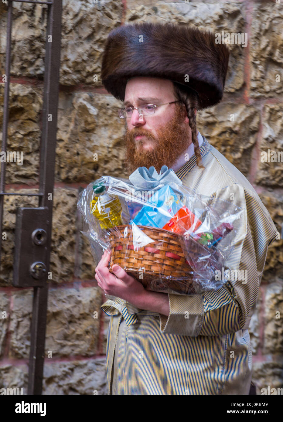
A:
[[[196,91],[202,110],[221,101],[228,61],[228,47],[216,44],[212,32],[171,22],[127,24],[108,35],[102,57],[102,83],[114,97],[124,101],[129,78],[170,79]]]

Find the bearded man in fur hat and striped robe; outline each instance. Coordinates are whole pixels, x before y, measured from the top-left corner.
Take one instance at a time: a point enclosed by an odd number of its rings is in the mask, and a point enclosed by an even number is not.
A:
[[[197,131],[196,111],[223,95],[229,52],[213,38],[172,24],[126,25],[108,37],[102,81],[124,101],[129,171],[167,165],[185,186],[242,207],[243,227],[226,263],[247,274],[201,295],[151,292],[119,265],[111,274],[105,251],[95,278],[116,297],[101,307],[111,315],[108,394],[249,393],[248,326],[277,230],[248,180]]]

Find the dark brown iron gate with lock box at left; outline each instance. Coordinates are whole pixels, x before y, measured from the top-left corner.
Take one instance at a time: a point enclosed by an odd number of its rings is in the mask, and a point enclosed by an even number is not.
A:
[[[13,1],[48,5],[42,133],[40,139],[39,192],[5,192],[6,162],[1,163],[0,175],[0,253],[2,242],[4,195],[38,196],[38,208],[17,208],[13,286],[33,287],[29,381],[27,393],[41,394],[48,296],[47,274],[49,272],[51,245],[52,200],[50,200],[50,198],[53,197],[54,185],[62,0],[53,0],[53,2],[7,0],[8,22],[5,57],[6,81],[4,88],[2,140],[2,151],[5,152],[7,150]],[[52,36],[51,38],[49,37],[50,35]],[[50,114],[52,115],[52,119],[49,121],[48,116],[50,116]]]

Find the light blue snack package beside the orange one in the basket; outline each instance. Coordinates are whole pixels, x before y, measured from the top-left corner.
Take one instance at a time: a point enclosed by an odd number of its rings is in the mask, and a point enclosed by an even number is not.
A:
[[[132,220],[136,225],[162,228],[183,207],[183,203],[169,185],[163,186],[148,199],[146,205]]]

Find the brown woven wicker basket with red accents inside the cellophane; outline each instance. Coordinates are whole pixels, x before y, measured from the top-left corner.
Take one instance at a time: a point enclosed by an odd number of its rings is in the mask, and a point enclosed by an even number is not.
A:
[[[112,265],[118,264],[148,290],[162,292],[169,289],[179,294],[193,294],[193,272],[184,257],[178,235],[155,227],[138,227],[154,242],[135,250],[132,226],[116,226],[109,233],[109,271],[113,273]],[[141,273],[143,278],[140,278]]]

